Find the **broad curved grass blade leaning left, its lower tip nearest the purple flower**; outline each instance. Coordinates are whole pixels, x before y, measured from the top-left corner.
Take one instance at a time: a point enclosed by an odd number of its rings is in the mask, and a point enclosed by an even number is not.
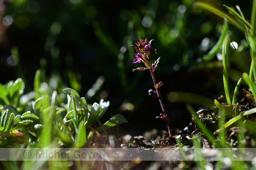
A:
[[[224,38],[227,34],[227,31],[229,29],[229,26],[228,26],[228,22],[227,22],[227,19],[224,18],[224,23],[223,23],[223,27],[222,27],[222,31],[221,31],[221,35],[218,39],[218,42],[215,44],[215,46],[211,49],[211,51],[209,51],[208,54],[206,54],[205,56],[203,56],[203,61],[210,61],[212,58],[214,58],[216,56],[216,54],[218,53],[223,41],[224,41]]]

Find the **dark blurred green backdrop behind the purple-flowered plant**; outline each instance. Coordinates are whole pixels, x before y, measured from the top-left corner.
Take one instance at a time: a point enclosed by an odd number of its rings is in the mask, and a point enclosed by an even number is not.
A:
[[[206,2],[224,11],[223,4],[238,4],[250,18],[252,0]],[[154,39],[152,63],[162,57],[155,76],[164,83],[160,91],[173,133],[188,126],[186,103],[209,108],[225,94],[222,61],[215,56],[200,62],[217,43],[223,19],[193,7],[193,0],[0,0],[0,20],[0,83],[20,77],[29,92],[41,69],[53,89],[71,87],[91,104],[110,101],[102,122],[122,114],[128,123],[120,126],[121,134],[167,130],[164,120],[155,119],[161,107],[148,95],[154,88],[150,72],[132,72],[143,67],[132,64],[135,50],[129,47],[139,36]],[[230,67],[248,72],[244,33],[230,25],[230,35],[243,51],[230,50],[230,60],[242,61]],[[232,71],[231,89],[241,78]]]

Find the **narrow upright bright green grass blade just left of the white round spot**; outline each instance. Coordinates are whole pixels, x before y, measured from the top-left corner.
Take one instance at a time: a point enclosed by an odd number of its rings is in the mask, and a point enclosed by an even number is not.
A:
[[[232,105],[230,99],[230,90],[229,90],[229,82],[228,82],[228,69],[227,69],[227,58],[226,58],[226,45],[229,36],[228,34],[225,36],[223,45],[222,45],[222,56],[223,56],[223,83],[226,94],[226,99],[229,105]]]

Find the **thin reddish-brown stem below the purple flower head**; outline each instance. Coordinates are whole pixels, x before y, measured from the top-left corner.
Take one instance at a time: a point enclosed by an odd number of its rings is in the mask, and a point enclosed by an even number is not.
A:
[[[156,83],[156,80],[155,80],[153,68],[151,67],[149,70],[150,70],[150,73],[151,73],[151,76],[152,76],[152,79],[153,79],[153,82],[154,82],[154,87],[156,87],[157,83]],[[161,116],[159,118],[165,119],[165,121],[167,123],[167,127],[168,127],[169,136],[172,138],[173,137],[172,130],[171,130],[171,127],[170,127],[169,119],[168,119],[167,114],[166,114],[166,109],[165,109],[160,91],[159,91],[158,88],[155,88],[155,90],[156,90],[156,94],[158,96],[158,100],[160,102],[160,105],[161,105],[161,108],[162,108],[162,111],[163,111],[163,116]]]

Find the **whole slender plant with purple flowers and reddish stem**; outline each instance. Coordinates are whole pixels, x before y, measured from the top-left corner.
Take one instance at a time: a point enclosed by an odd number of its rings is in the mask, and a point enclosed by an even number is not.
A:
[[[138,67],[137,69],[133,69],[132,72],[135,71],[142,71],[142,70],[149,70],[154,82],[154,88],[155,90],[149,90],[148,93],[149,95],[155,96],[158,98],[161,108],[162,108],[162,112],[160,114],[160,116],[157,116],[157,119],[164,119],[167,123],[167,127],[168,127],[168,132],[169,132],[169,136],[173,137],[172,131],[171,131],[171,127],[170,127],[170,123],[169,123],[169,119],[167,117],[166,114],[166,109],[164,107],[163,101],[162,101],[162,97],[159,91],[159,88],[162,86],[162,82],[157,83],[155,76],[154,76],[154,72],[155,72],[155,68],[158,66],[158,63],[161,59],[161,57],[159,57],[156,61],[154,61],[154,64],[151,65],[150,59],[154,56],[154,54],[156,54],[157,50],[154,50],[151,53],[151,43],[153,40],[150,40],[149,43],[147,43],[147,39],[146,40],[142,40],[139,37],[139,41],[137,41],[136,46],[131,45],[130,47],[133,47],[136,50],[136,54],[135,54],[135,59],[133,60],[132,63],[140,63],[143,62],[145,64],[146,67]]]

